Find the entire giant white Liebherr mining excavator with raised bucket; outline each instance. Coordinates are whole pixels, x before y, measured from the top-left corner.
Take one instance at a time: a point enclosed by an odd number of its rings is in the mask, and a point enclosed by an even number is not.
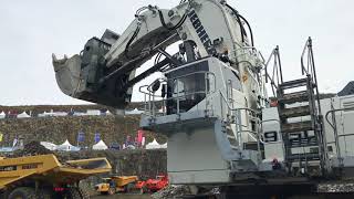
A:
[[[321,98],[311,39],[302,77],[284,81],[279,48],[264,60],[249,22],[226,0],[147,6],[135,18],[122,35],[107,30],[88,40],[81,54],[53,54],[55,76],[66,95],[124,108],[136,83],[162,72],[139,87],[140,126],[168,137],[171,185],[264,198],[354,179],[354,96]],[[176,42],[177,52],[167,53]],[[152,57],[154,65],[136,75]]]

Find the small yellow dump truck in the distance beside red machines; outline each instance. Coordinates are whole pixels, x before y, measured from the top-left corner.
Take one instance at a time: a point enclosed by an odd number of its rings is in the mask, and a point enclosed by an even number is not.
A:
[[[101,195],[114,195],[116,192],[132,192],[136,189],[137,176],[113,176],[103,178],[103,182],[95,186]]]

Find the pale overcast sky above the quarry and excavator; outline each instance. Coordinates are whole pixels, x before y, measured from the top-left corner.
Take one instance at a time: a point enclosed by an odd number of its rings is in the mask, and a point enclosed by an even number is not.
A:
[[[84,104],[59,90],[51,53],[73,55],[105,29],[122,33],[146,4],[179,0],[2,0],[0,105]],[[300,74],[300,55],[313,38],[320,88],[339,92],[354,80],[354,1],[229,0],[251,23],[256,46],[268,56],[279,44],[285,80]],[[134,101],[143,100],[134,95]]]

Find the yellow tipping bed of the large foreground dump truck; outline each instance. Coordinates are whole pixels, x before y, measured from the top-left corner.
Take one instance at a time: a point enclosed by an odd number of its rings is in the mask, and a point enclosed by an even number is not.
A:
[[[61,164],[54,155],[0,159],[0,189],[21,180],[52,185],[74,184],[92,175],[110,172],[106,158],[71,160]]]

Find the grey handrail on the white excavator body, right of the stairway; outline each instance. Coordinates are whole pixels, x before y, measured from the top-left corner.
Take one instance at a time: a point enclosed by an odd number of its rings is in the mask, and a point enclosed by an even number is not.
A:
[[[329,123],[329,125],[333,129],[336,155],[337,155],[337,159],[339,159],[341,166],[343,166],[343,157],[342,157],[342,153],[341,153],[340,138],[341,137],[354,136],[354,134],[345,134],[344,132],[343,132],[342,135],[339,134],[339,129],[337,129],[337,126],[336,126],[337,122],[336,122],[336,115],[335,114],[337,112],[345,112],[345,111],[354,111],[354,107],[331,109],[325,114],[325,119],[326,119],[326,122]],[[330,115],[331,115],[332,122],[329,118]]]

